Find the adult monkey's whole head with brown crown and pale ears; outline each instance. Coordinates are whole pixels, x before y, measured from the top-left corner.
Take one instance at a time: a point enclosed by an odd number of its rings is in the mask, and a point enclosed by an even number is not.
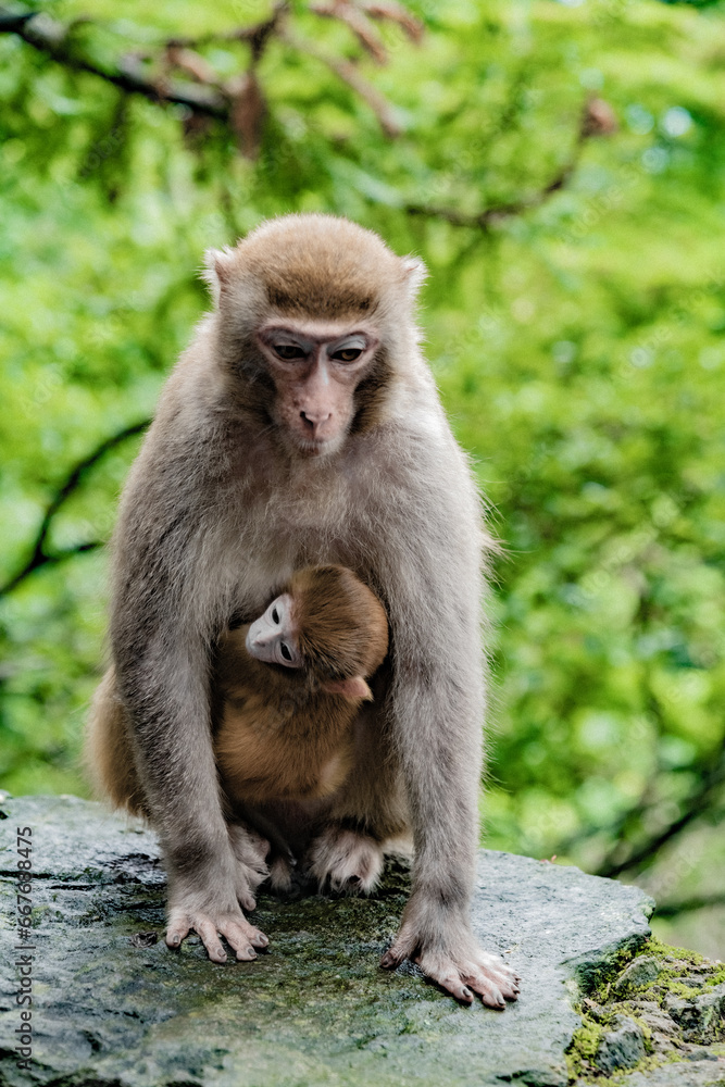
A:
[[[296,458],[337,452],[386,415],[418,363],[412,309],[424,270],[332,215],[263,224],[210,251],[225,392]]]

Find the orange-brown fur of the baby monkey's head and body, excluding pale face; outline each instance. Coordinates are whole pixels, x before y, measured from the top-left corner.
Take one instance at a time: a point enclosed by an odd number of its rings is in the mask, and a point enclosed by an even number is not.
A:
[[[222,636],[216,670],[221,721],[214,739],[233,808],[326,797],[353,757],[352,722],[372,699],[364,682],[388,651],[383,604],[343,566],[308,567],[287,586],[303,664],[255,660],[249,625]]]

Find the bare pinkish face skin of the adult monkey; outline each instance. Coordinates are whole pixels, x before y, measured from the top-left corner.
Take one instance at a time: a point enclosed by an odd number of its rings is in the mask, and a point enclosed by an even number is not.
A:
[[[350,429],[355,389],[375,359],[375,329],[287,318],[261,328],[257,341],[276,389],[275,422],[295,451],[336,452]]]

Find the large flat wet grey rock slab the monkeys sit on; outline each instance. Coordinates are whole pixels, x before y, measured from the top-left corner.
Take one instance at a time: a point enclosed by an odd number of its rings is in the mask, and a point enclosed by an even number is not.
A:
[[[8,1087],[565,1087],[580,986],[649,932],[636,887],[482,851],[474,927],[523,979],[502,1013],[455,1004],[410,964],[379,969],[408,890],[395,866],[372,899],[262,896],[270,952],[217,966],[196,937],[166,948],[164,874],[140,824],[72,797],[0,807],[10,926],[18,826],[34,875],[30,949],[0,934],[3,1039],[22,1025],[13,964],[33,957],[33,1064],[3,1041]]]

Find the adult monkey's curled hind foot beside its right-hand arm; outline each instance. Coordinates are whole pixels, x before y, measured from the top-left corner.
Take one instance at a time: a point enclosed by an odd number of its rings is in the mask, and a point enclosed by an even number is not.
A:
[[[321,890],[370,895],[383,872],[383,850],[374,838],[330,826],[312,842],[309,866]]]

